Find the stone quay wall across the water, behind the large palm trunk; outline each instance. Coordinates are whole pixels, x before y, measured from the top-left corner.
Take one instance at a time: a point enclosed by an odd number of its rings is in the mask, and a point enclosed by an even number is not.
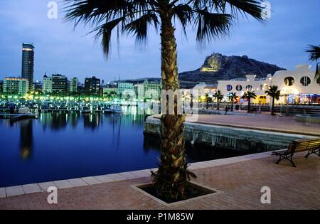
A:
[[[301,134],[267,132],[255,129],[223,127],[218,125],[185,122],[184,137],[191,144],[201,143],[242,151],[272,151],[286,149],[294,139],[313,138]],[[144,133],[160,135],[160,120],[148,117]]]

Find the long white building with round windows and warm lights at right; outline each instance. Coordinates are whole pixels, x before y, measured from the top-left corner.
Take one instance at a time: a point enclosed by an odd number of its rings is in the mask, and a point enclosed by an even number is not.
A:
[[[242,96],[245,91],[254,91],[257,98],[252,103],[270,103],[265,90],[276,85],[282,93],[277,103],[309,103],[320,100],[320,78],[314,78],[315,71],[309,65],[297,65],[296,70],[281,70],[266,78],[257,79],[256,75],[246,75],[246,79],[218,81],[218,90],[228,100],[230,92]]]

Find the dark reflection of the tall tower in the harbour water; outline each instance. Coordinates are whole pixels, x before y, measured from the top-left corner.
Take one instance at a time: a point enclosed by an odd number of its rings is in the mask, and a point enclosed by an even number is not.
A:
[[[20,153],[23,159],[31,156],[33,148],[33,128],[32,119],[22,120],[20,122]]]

